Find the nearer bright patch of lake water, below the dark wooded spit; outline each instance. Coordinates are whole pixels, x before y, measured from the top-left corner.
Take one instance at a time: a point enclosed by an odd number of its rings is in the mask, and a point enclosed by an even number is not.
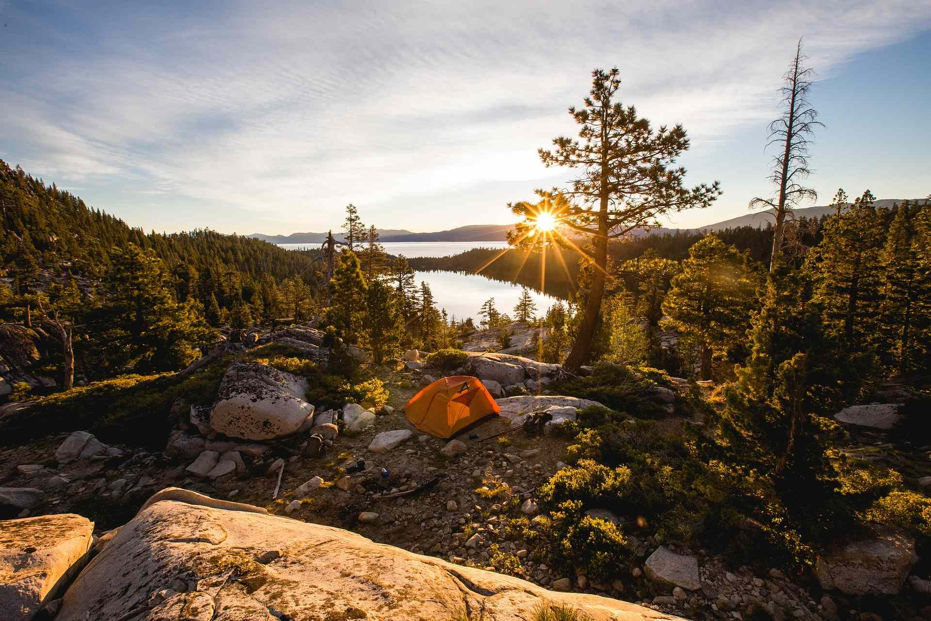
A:
[[[519,285],[456,272],[416,272],[415,275],[418,285],[425,280],[430,286],[437,306],[445,308],[457,319],[472,317],[478,326],[479,309],[489,298],[494,298],[494,306],[499,313],[507,313],[514,317],[514,306],[518,304],[520,297]],[[533,289],[530,293],[533,302],[536,303],[537,317],[542,316],[549,306],[558,302],[557,298]]]

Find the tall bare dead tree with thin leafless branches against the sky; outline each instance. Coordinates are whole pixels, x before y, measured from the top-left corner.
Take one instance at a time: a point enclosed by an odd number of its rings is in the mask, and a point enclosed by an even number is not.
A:
[[[817,111],[808,101],[812,87],[813,70],[804,66],[808,57],[802,54],[802,39],[795,47],[795,57],[789,63],[784,78],[785,86],[780,91],[784,107],[783,114],[769,124],[768,148],[779,146],[778,155],[773,157],[773,173],[769,180],[776,185],[772,198],[756,197],[750,201],[750,209],[773,209],[776,223],[773,227],[773,254],[769,269],[773,271],[776,256],[786,242],[786,220],[793,219],[792,209],[805,198],[817,198],[814,189],[804,187],[802,182],[811,173],[808,164],[808,147],[815,135],[815,128],[824,124],[817,119]]]

